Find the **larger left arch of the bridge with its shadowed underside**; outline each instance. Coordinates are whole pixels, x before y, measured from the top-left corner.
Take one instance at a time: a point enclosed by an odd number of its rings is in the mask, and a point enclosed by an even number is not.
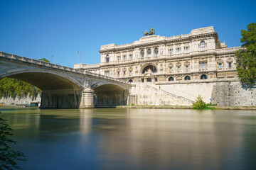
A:
[[[78,108],[82,84],[60,72],[42,69],[9,69],[0,74],[1,79],[9,77],[26,81],[43,91],[42,108]]]

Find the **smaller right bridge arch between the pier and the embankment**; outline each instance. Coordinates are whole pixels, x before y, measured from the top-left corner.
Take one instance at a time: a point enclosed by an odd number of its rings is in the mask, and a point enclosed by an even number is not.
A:
[[[129,89],[122,84],[102,82],[92,86],[95,94],[95,107],[115,107],[127,105]]]

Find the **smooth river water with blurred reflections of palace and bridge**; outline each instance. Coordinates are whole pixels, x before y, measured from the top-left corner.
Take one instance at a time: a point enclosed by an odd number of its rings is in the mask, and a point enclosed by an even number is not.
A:
[[[256,169],[255,111],[0,111],[25,170]]]

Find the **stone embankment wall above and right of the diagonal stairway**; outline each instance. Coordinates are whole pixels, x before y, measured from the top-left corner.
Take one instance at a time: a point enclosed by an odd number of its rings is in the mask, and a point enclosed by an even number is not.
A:
[[[198,95],[206,103],[218,106],[256,106],[256,86],[251,89],[242,86],[240,81],[219,81],[192,84],[150,84],[176,96],[196,101]],[[211,100],[210,100],[211,99]],[[182,104],[179,104],[182,105]]]

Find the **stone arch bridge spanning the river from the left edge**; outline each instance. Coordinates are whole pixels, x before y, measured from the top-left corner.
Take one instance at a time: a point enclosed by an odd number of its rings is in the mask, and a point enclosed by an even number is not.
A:
[[[41,89],[41,108],[93,108],[135,101],[129,82],[0,52],[0,79],[4,77]]]

